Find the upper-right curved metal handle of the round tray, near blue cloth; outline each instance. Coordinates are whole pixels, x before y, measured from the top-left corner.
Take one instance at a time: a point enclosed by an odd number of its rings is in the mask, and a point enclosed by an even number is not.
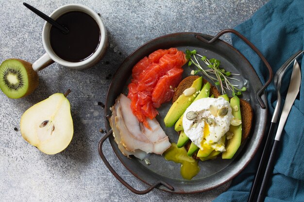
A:
[[[211,40],[207,40],[205,39],[203,36],[201,35],[196,35],[195,37],[201,41],[203,41],[206,44],[212,44],[215,40],[217,40],[218,38],[220,38],[221,35],[225,34],[225,33],[234,33],[236,36],[238,36],[240,39],[242,39],[249,47],[251,47],[253,49],[253,51],[260,57],[260,59],[264,62],[264,64],[266,65],[268,72],[269,72],[269,78],[266,81],[266,83],[262,86],[261,89],[259,89],[256,92],[256,99],[258,101],[258,103],[260,104],[262,109],[266,108],[266,105],[264,104],[263,100],[261,99],[261,94],[263,93],[263,91],[266,89],[266,87],[270,84],[271,80],[272,80],[272,69],[270,67],[270,64],[267,62],[267,60],[264,58],[264,56],[262,55],[262,53],[257,49],[257,47],[255,47],[245,36],[243,36],[241,33],[239,33],[236,30],[233,29],[226,29],[223,31],[220,31],[216,36],[214,36]]]

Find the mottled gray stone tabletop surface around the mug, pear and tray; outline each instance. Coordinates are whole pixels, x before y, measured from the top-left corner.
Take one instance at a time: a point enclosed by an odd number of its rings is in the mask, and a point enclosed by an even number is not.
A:
[[[0,92],[0,201],[168,201],[209,202],[222,193],[225,184],[199,194],[169,194],[160,190],[138,196],[122,186],[101,161],[97,145],[105,128],[97,102],[105,94],[119,64],[137,47],[172,32],[195,31],[215,35],[248,19],[268,0],[29,0],[27,3],[51,14],[68,3],[91,7],[107,28],[109,48],[93,68],[66,69],[59,64],[39,72],[39,86],[22,99],[9,99]],[[0,0],[0,62],[20,58],[34,62],[43,53],[44,21],[22,5],[23,1]],[[230,36],[223,40],[230,42]],[[45,155],[22,139],[19,121],[23,112],[53,93],[68,96],[74,120],[74,137],[57,155]],[[14,130],[17,127],[18,131]],[[135,188],[147,186],[135,179],[118,161],[111,146],[105,155],[123,178]]]

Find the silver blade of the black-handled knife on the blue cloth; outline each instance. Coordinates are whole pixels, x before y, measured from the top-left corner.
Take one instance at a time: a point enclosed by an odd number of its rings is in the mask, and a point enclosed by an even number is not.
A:
[[[301,71],[299,63],[295,60],[290,78],[290,84],[287,91],[286,100],[282,109],[280,122],[274,140],[280,141],[284,125],[286,123],[290,109],[300,91]]]

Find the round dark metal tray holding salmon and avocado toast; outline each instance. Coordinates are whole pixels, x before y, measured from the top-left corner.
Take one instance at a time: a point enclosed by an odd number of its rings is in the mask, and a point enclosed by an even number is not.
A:
[[[141,161],[136,158],[129,159],[125,157],[120,153],[113,136],[107,134],[107,136],[101,140],[99,145],[102,160],[106,163],[107,167],[111,168],[102,153],[102,143],[106,138],[109,138],[113,150],[121,163],[138,179],[150,185],[151,187],[148,188],[150,190],[154,186],[157,186],[157,188],[161,190],[173,193],[196,193],[220,186],[233,179],[246,167],[249,161],[253,158],[264,134],[267,123],[267,105],[264,106],[265,109],[263,109],[256,99],[256,92],[262,88],[262,83],[256,75],[252,65],[241,53],[229,44],[219,39],[212,44],[207,44],[199,40],[199,37],[197,36],[202,36],[207,40],[212,38],[209,35],[200,33],[174,33],[156,38],[136,49],[121,64],[112,79],[106,97],[105,115],[107,116],[111,114],[110,107],[114,105],[115,99],[118,95],[120,93],[127,93],[127,85],[130,82],[132,68],[140,59],[160,48],[166,49],[176,47],[183,51],[185,51],[186,48],[190,50],[196,49],[198,53],[205,55],[207,58],[216,58],[220,60],[221,65],[227,71],[240,74],[238,77],[240,82],[238,84],[242,85],[245,83],[248,89],[243,93],[241,98],[246,99],[251,104],[254,113],[251,134],[250,137],[242,143],[233,159],[217,158],[215,160],[200,162],[199,165],[201,171],[198,175],[193,177],[192,180],[185,180],[181,177],[180,164],[166,161],[161,155],[149,155],[151,165],[146,165],[145,161]],[[190,75],[191,70],[191,67],[185,65],[183,76],[186,77]],[[261,100],[264,103],[267,103],[264,92],[262,92]],[[178,135],[174,129],[166,128],[163,124],[163,119],[170,105],[170,103],[163,104],[162,107],[159,108],[159,115],[156,118],[169,136],[170,141],[177,142]],[[107,120],[106,129],[107,131],[111,129]],[[118,180],[125,185],[125,182],[119,178],[117,173],[112,168],[110,170]],[[128,188],[137,194],[144,194],[150,191],[137,191],[132,189],[132,187]]]

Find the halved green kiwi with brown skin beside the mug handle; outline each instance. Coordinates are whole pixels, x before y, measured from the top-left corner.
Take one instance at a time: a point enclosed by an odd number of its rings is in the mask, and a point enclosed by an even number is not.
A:
[[[9,98],[21,98],[38,86],[38,75],[30,62],[8,59],[0,65],[0,89]]]

